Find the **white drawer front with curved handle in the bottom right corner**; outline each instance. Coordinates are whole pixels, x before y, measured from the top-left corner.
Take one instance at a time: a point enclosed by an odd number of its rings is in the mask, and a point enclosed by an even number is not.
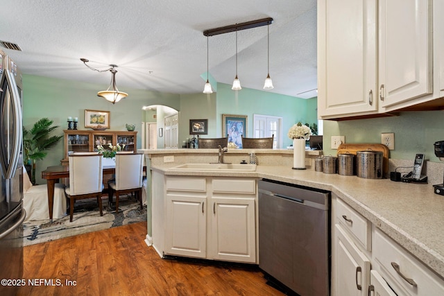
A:
[[[444,281],[380,229],[375,229],[373,254],[382,277],[398,295],[444,295]]]

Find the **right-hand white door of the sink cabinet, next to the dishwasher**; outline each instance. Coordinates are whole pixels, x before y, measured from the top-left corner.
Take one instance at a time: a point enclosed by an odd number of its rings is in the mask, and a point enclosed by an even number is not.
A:
[[[256,262],[255,200],[212,198],[211,259]]]

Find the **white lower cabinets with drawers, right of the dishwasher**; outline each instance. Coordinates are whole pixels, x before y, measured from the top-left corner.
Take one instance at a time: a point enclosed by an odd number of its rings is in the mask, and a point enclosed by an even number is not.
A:
[[[332,193],[331,295],[444,295],[444,280]]]

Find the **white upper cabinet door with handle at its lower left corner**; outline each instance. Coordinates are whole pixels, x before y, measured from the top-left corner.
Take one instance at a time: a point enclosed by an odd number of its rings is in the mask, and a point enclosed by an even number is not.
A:
[[[432,62],[432,0],[381,0],[379,99],[383,100],[382,107],[432,94]]]

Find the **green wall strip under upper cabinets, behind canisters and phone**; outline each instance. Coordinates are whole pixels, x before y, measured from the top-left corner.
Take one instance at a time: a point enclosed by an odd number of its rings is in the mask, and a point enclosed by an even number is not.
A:
[[[350,121],[324,121],[325,155],[331,150],[331,136],[345,136],[346,143],[381,143],[382,132],[395,133],[395,150],[390,158],[411,159],[425,153],[426,159],[439,162],[433,143],[444,140],[444,111],[401,112],[400,116]]]

